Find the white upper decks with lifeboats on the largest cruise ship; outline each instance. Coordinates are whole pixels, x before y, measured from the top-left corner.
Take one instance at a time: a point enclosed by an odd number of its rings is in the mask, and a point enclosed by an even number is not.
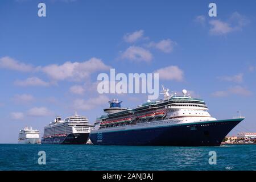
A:
[[[117,110],[102,115],[97,118],[92,133],[97,132],[95,130],[105,132],[216,121],[216,118],[209,114],[205,102],[192,98],[187,94],[187,90],[182,90],[183,96],[176,96],[176,93],[169,94],[168,92],[169,90],[163,87],[164,100],[148,100],[135,109]]]

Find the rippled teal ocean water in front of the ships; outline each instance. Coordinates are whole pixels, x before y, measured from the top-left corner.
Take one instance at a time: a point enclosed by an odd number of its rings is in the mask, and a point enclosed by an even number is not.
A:
[[[46,164],[38,164],[38,152]],[[217,164],[209,164],[216,151]],[[220,147],[0,144],[0,170],[256,170],[256,145]]]

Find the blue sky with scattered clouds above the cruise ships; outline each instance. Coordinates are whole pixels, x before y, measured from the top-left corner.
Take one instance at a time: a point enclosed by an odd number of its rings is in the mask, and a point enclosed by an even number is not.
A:
[[[46,17],[38,3],[46,3]],[[97,75],[160,73],[160,84],[207,102],[218,119],[241,110],[230,135],[256,132],[256,2],[13,0],[0,2],[0,143],[77,111],[91,123],[110,98],[135,107],[146,94],[101,95]],[[162,96],[160,96],[161,98]]]

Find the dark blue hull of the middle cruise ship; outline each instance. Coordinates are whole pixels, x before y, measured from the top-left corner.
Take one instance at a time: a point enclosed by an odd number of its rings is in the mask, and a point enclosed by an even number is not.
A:
[[[89,133],[69,134],[67,137],[42,138],[42,144],[86,144]]]

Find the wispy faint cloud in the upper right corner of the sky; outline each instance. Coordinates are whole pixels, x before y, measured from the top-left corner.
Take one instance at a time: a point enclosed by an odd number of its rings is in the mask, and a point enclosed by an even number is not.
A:
[[[249,23],[249,20],[247,20],[245,16],[235,12],[226,22],[222,20],[210,20],[210,34],[225,35],[229,32],[242,30],[247,23]]]

